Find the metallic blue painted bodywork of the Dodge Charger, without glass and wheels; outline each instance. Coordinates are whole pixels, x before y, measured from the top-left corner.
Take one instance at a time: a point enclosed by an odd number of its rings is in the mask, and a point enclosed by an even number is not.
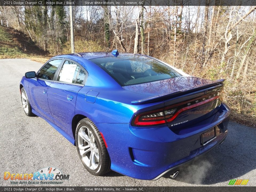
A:
[[[20,85],[26,90],[32,112],[45,119],[73,145],[73,118],[75,115],[90,118],[104,135],[112,170],[138,179],[155,179],[225,139],[230,109],[225,103],[219,104],[217,101],[184,111],[168,124],[146,127],[131,125],[136,114],[202,96],[209,87],[213,89],[218,83],[212,85],[210,80],[182,76],[122,87],[88,60],[114,57],[111,53],[80,54],[82,57],[69,54],[52,59],[67,58],[79,63],[88,73],[85,85],[26,77],[22,77]],[[175,94],[166,96],[170,93]],[[211,110],[206,113],[207,109]],[[189,121],[171,126],[185,120]],[[216,125],[222,134],[202,146],[201,134]]]

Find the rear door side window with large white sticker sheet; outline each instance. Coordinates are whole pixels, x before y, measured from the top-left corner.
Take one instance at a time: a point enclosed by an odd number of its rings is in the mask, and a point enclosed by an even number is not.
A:
[[[81,67],[71,61],[65,61],[57,81],[84,84],[85,76],[86,73],[81,69]]]

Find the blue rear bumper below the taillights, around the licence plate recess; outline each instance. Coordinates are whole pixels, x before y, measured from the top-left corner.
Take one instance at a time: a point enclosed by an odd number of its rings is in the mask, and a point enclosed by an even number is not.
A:
[[[179,169],[191,159],[210,151],[227,136],[230,109],[222,103],[220,110],[211,118],[178,135],[167,125],[133,127],[130,124],[97,123],[108,145],[111,169],[129,177],[155,180]],[[222,131],[217,138],[202,146],[200,135],[218,125]]]

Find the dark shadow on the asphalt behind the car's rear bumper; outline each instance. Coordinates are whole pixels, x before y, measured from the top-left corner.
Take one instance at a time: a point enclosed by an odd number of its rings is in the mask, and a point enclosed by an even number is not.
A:
[[[256,169],[256,129],[230,122],[225,141],[209,153],[182,167],[175,180],[211,185],[243,178]]]

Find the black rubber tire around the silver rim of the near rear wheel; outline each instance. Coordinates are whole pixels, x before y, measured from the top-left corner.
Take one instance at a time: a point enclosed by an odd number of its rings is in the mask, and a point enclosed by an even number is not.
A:
[[[98,150],[98,155],[99,155],[99,157],[98,157],[99,160],[96,159],[96,161],[98,161],[98,162],[96,162],[96,163],[94,162],[94,164],[96,164],[98,167],[94,170],[90,169],[90,167],[86,165],[86,163],[85,163],[85,158],[86,158],[85,156],[86,155],[83,155],[83,158],[84,158],[83,159],[82,156],[81,156],[81,153],[80,153],[80,151],[82,151],[82,150],[79,150],[79,146],[78,146],[78,144],[80,144],[81,147],[90,146],[90,144],[88,142],[86,142],[86,140],[82,139],[80,136],[78,137],[78,133],[81,134],[81,132],[84,131],[84,130],[85,130],[84,132],[86,132],[86,130],[87,130],[87,135],[89,135],[88,129],[90,130],[91,134],[94,136],[93,140],[94,140],[94,144],[97,145],[96,146],[97,149],[96,148],[94,148],[94,149],[90,148],[91,151],[89,151],[85,154],[87,154],[87,158],[89,159],[89,157],[88,157],[88,156],[90,156],[89,153],[91,154],[92,150],[96,149],[96,150]],[[91,138],[92,138],[92,136],[91,136]],[[82,140],[83,144],[81,143],[81,140]],[[91,143],[93,143],[93,142],[91,141]],[[78,155],[80,157],[80,160],[82,161],[83,165],[85,166],[85,168],[87,169],[87,171],[89,173],[91,173],[92,175],[101,176],[101,175],[104,175],[104,174],[106,174],[110,171],[111,162],[110,162],[109,153],[107,152],[106,145],[103,141],[103,138],[102,138],[101,133],[99,132],[97,126],[89,118],[82,119],[77,124],[77,128],[76,128],[76,131],[75,131],[75,144],[76,144],[76,147],[77,147],[77,152],[78,152]],[[89,149],[89,148],[87,148],[87,149]],[[84,151],[86,151],[86,149],[84,149]],[[90,159],[89,159],[89,161],[90,161]]]

